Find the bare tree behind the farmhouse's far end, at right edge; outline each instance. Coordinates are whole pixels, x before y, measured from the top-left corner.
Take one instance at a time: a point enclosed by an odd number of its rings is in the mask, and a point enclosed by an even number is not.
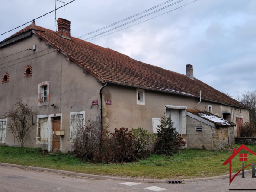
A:
[[[246,91],[238,95],[236,99],[251,108],[249,111],[250,122],[256,122],[256,91]]]

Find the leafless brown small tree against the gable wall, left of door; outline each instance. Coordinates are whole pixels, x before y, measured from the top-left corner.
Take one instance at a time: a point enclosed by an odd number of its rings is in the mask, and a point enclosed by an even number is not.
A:
[[[22,99],[18,99],[4,115],[8,121],[7,130],[17,138],[21,148],[24,147],[24,143],[35,128],[36,114],[37,110],[33,110],[28,104],[24,104]]]

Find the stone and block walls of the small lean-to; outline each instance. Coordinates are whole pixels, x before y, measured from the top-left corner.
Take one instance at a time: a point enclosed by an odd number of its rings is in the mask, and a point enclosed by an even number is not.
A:
[[[196,127],[202,127],[202,132],[196,132]],[[235,144],[234,127],[214,128],[194,118],[187,116],[188,148],[206,150],[221,150]]]

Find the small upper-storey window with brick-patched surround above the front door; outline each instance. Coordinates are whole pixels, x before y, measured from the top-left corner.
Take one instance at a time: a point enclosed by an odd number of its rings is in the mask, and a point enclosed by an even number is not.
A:
[[[38,106],[49,104],[49,86],[49,81],[38,84]]]

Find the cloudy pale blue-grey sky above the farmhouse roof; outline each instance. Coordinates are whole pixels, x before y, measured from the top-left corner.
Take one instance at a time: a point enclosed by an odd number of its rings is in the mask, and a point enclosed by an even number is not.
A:
[[[71,0],[61,1],[68,3]],[[166,1],[76,0],[66,6],[66,15],[64,8],[57,10],[57,19],[62,17],[70,20],[71,35],[79,37]],[[183,0],[118,29],[192,1]],[[59,7],[64,3],[56,4]],[[0,34],[51,10],[54,10],[54,0],[0,0]],[[54,18],[55,13],[50,13],[35,23],[55,30]],[[1,35],[0,41],[20,29],[22,27]],[[86,35],[82,39],[98,33]],[[186,74],[186,64],[192,64],[194,77],[233,97],[246,90],[256,90],[256,0],[197,0],[155,19],[90,42],[182,74]]]

